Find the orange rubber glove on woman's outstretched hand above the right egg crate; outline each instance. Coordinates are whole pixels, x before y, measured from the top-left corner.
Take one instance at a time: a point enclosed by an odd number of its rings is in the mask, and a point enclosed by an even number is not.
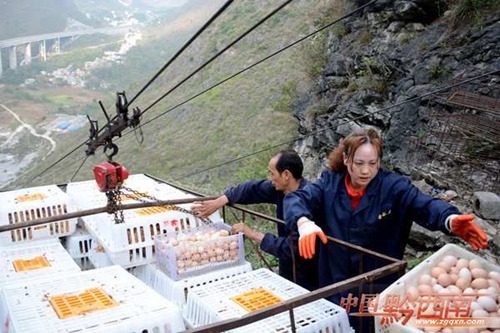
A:
[[[488,236],[477,224],[472,214],[457,215],[451,219],[451,232],[469,243],[474,251],[488,247]]]

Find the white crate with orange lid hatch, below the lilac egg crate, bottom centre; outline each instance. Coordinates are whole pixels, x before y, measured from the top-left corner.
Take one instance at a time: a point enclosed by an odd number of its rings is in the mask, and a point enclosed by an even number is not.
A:
[[[306,289],[267,269],[258,269],[192,288],[184,308],[184,317],[188,324],[193,327],[239,318],[247,314],[248,311],[231,298],[259,288],[281,300],[288,300],[308,293]],[[324,299],[295,308],[294,317],[297,332],[352,332],[345,310]],[[285,311],[231,332],[290,331],[290,316]]]

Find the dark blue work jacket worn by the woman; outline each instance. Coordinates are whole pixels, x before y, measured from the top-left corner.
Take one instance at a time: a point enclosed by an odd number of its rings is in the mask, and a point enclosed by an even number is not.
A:
[[[328,236],[402,259],[413,221],[429,230],[439,229],[448,234],[446,218],[459,214],[458,209],[447,202],[421,192],[408,178],[383,169],[368,184],[354,210],[345,177],[345,172],[324,171],[314,183],[289,193],[285,198],[287,226],[294,228],[297,220],[305,216]],[[318,240],[318,243],[321,242]],[[319,245],[319,287],[389,264],[367,254],[361,260],[360,266],[357,251],[333,242]],[[396,278],[375,281],[372,293],[382,291]],[[339,299],[340,295],[332,297],[336,303]]]

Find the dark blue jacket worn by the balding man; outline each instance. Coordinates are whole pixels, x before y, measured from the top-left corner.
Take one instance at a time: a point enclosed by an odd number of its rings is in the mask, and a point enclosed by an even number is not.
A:
[[[309,182],[302,179],[299,188],[303,188]],[[225,193],[230,203],[233,204],[258,204],[269,203],[276,205],[276,218],[283,220],[284,193],[277,191],[268,180],[251,180],[241,185],[228,189]],[[300,258],[298,251],[299,234],[297,226],[290,229],[284,224],[277,224],[278,236],[266,233],[260,248],[262,251],[272,254],[278,258],[279,274],[293,281],[293,258],[295,258],[296,283],[308,290],[318,287],[317,260],[304,260]],[[292,257],[291,247],[293,245],[294,255]]]

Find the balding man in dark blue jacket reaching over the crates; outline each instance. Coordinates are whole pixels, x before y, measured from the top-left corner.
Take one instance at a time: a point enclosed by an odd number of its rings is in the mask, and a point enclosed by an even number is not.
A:
[[[283,202],[285,195],[303,188],[308,181],[302,177],[304,167],[300,156],[294,150],[280,151],[269,161],[269,180],[250,180],[228,189],[215,200],[199,202],[193,211],[200,217],[206,217],[227,203],[276,205],[276,217],[283,220]],[[298,253],[299,234],[297,227],[288,229],[278,224],[278,236],[272,233],[262,234],[243,223],[234,225],[233,231],[243,232],[246,237],[260,242],[262,251],[278,258],[279,274],[294,281],[294,268],[298,285],[314,290],[317,288],[316,260],[305,260]],[[292,253],[293,248],[293,253]]]

